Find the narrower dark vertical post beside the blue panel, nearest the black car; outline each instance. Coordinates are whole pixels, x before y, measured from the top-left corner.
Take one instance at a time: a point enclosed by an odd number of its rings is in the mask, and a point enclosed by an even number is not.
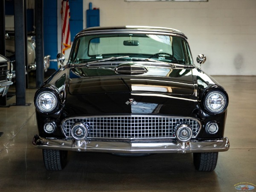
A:
[[[44,82],[44,3],[35,1],[35,53],[36,53],[36,87]]]

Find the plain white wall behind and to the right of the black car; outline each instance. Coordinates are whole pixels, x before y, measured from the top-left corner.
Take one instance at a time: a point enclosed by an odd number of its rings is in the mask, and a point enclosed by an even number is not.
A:
[[[84,0],[84,28],[89,2],[99,7],[101,26],[163,26],[184,32],[194,61],[200,53],[207,56],[202,69],[210,75],[256,75],[256,0]]]

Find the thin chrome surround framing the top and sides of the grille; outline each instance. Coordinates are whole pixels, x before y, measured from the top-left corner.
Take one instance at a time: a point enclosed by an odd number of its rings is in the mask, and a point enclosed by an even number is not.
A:
[[[62,120],[62,122],[61,122],[61,131],[65,135],[65,137],[67,137],[66,133],[64,132],[64,127],[63,126],[64,126],[64,122],[68,121],[70,119],[108,118],[108,117],[153,117],[153,118],[170,118],[170,119],[171,118],[173,118],[173,119],[190,119],[192,121],[196,121],[198,123],[198,128],[199,128],[197,134],[195,136],[192,136],[192,138],[196,138],[198,136],[199,132],[201,131],[201,128],[202,128],[201,122],[198,119],[195,119],[195,118],[192,118],[192,117],[161,116],[161,115],[134,115],[134,114],[131,114],[131,115],[102,115],[102,116],[74,116],[74,117],[69,117],[69,118],[66,118],[66,119]],[[71,137],[69,137],[69,138],[71,138]],[[165,138],[175,138],[175,137],[165,137]],[[92,138],[88,137],[88,139],[92,139]],[[97,137],[97,139],[106,139],[106,138]],[[116,139],[118,139],[118,138],[116,138]],[[134,139],[134,138],[131,138],[131,140],[132,139]],[[142,139],[145,139],[145,138],[142,138]],[[159,137],[157,137],[157,139],[159,139]],[[127,140],[127,138],[125,138],[125,140]]]

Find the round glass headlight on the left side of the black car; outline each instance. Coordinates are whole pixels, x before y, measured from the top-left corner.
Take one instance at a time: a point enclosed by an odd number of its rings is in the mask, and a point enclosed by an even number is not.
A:
[[[58,100],[54,93],[43,91],[36,97],[35,104],[39,111],[49,113],[57,107]]]

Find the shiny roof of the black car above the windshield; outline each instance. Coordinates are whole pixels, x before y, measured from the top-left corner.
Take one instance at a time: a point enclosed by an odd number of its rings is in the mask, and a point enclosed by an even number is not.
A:
[[[156,33],[171,33],[183,36],[187,39],[186,35],[183,32],[180,32],[177,29],[167,28],[167,27],[155,27],[155,26],[107,26],[107,27],[89,27],[83,29],[76,36],[82,35],[85,33],[93,32],[156,32]]]

